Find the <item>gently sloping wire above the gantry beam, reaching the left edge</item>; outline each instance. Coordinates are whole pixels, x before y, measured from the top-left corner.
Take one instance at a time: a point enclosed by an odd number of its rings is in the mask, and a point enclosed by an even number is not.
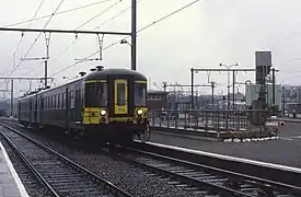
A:
[[[93,2],[93,3],[84,4],[84,5],[81,5],[81,7],[63,10],[63,11],[60,11],[60,12],[57,12],[57,13],[51,13],[51,14],[38,16],[38,18],[33,19],[33,20],[26,20],[26,21],[22,21],[22,22],[18,22],[18,23],[8,24],[8,25],[4,25],[2,27],[10,27],[10,26],[15,26],[15,25],[21,25],[21,24],[33,22],[33,21],[38,21],[38,20],[42,20],[42,19],[46,19],[46,18],[49,18],[51,15],[66,14],[66,13],[69,13],[69,12],[82,10],[82,9],[94,7],[94,5],[97,5],[97,4],[102,4],[102,3],[105,3],[105,2],[108,2],[108,1],[113,1],[113,0],[102,0],[102,1]]]

